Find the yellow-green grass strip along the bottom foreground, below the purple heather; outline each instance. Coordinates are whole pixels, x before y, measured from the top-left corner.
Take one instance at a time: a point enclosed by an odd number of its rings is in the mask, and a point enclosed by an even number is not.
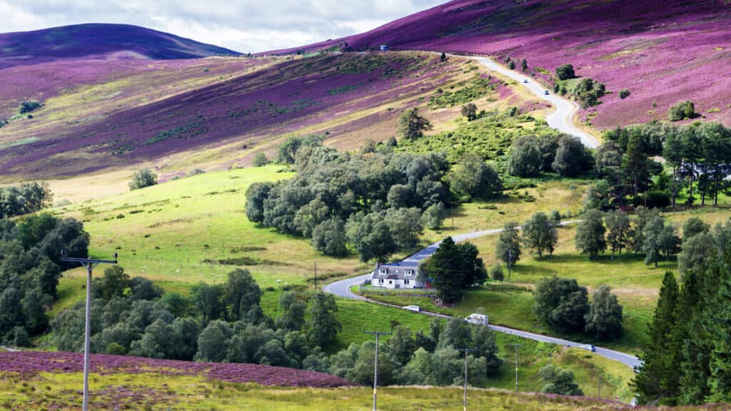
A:
[[[567,358],[566,361],[580,361]],[[0,373],[0,407],[3,409],[78,410],[81,374],[42,373],[20,378]],[[368,410],[373,388],[290,388],[220,382],[205,377],[110,373],[91,374],[91,407],[120,410]],[[589,396],[596,390],[587,387]],[[586,391],[586,390],[585,390]],[[602,389],[602,397],[610,396]],[[458,410],[463,391],[456,387],[389,387],[378,389],[379,410]],[[510,390],[468,391],[470,409],[523,411],[626,410],[626,404],[593,398],[542,396]],[[113,405],[112,405],[113,404]],[[706,408],[703,408],[704,410]],[[680,407],[678,411],[699,410]]]

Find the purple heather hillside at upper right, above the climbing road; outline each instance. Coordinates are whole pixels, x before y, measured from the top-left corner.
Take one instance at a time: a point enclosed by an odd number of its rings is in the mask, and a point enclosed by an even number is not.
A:
[[[683,99],[731,124],[729,27],[731,4],[723,0],[455,0],[300,49],[385,43],[391,50],[511,56],[549,72],[569,63],[613,91],[591,109],[596,113],[584,113],[596,127],[667,118],[670,105]],[[626,99],[618,96],[623,88],[632,93]]]

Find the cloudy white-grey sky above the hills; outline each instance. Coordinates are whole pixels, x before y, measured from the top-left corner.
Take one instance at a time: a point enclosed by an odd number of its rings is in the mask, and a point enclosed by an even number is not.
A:
[[[0,32],[126,23],[246,53],[368,31],[446,1],[0,0]]]

